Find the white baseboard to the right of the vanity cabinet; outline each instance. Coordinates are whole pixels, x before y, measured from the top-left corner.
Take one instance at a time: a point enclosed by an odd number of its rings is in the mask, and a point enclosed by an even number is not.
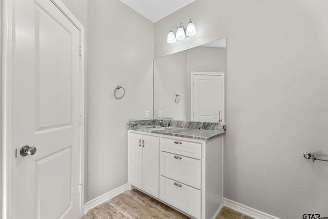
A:
[[[250,207],[242,205],[240,203],[231,201],[228,198],[223,198],[223,205],[228,208],[231,208],[235,211],[239,211],[240,213],[243,213],[250,217],[254,217],[255,219],[280,219],[278,217],[264,213],[262,211],[254,209],[254,208],[250,208]]]

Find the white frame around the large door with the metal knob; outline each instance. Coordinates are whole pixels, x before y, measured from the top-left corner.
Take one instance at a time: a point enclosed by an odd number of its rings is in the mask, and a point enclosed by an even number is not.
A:
[[[69,11],[69,9],[60,0],[51,1],[79,30],[79,43],[81,55],[79,59],[79,84],[80,84],[80,99],[79,110],[81,118],[84,118],[84,93],[85,93],[85,37],[84,27],[77,18]],[[3,212],[2,218],[12,218],[13,214],[13,195],[15,181],[15,147],[12,145],[13,137],[13,55],[14,55],[14,40],[15,40],[15,15],[14,15],[15,0],[3,0]],[[78,48],[76,48],[78,49]],[[79,197],[79,216],[83,216],[84,206],[84,123],[79,126],[79,183],[82,185]]]

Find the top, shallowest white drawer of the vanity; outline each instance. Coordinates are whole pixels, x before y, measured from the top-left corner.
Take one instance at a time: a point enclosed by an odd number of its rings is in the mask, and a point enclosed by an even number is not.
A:
[[[201,159],[201,144],[179,141],[170,138],[160,138],[160,150]]]

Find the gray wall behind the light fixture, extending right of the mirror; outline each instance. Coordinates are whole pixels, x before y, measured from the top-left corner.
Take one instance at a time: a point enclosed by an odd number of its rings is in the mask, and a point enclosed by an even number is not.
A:
[[[155,57],[227,38],[224,197],[280,218],[328,215],[328,2],[197,0],[155,23]],[[167,44],[191,17],[197,34]]]

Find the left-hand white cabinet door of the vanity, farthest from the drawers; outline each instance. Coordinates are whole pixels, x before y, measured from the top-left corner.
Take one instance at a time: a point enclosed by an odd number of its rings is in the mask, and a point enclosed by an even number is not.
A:
[[[142,135],[129,133],[129,177],[131,185],[142,189]]]

